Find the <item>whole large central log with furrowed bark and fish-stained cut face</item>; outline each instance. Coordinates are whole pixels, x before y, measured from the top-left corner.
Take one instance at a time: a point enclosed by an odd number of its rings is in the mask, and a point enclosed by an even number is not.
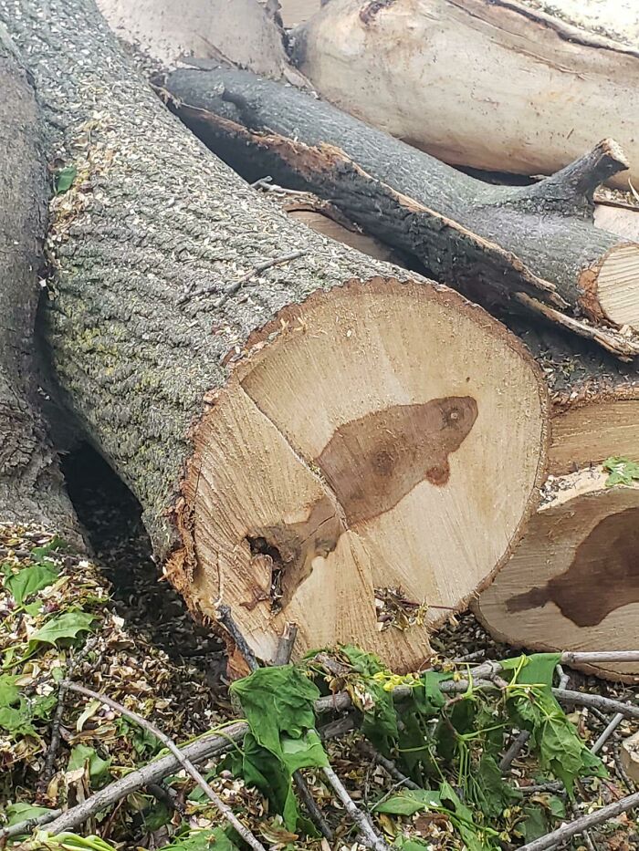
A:
[[[39,6],[0,0],[55,108],[49,156],[79,172],[53,205],[42,330],[165,576],[198,617],[230,607],[263,659],[296,623],[297,657],[354,641],[419,667],[436,607],[489,581],[533,510],[534,361],[455,292],[260,198],[162,106],[91,0],[50,0],[47,27]],[[397,586],[428,604],[423,625],[380,628],[375,589]]]

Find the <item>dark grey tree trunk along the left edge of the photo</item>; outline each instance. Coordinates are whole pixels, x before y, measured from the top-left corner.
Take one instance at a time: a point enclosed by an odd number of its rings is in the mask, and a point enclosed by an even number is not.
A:
[[[0,26],[0,523],[45,524],[79,544],[35,372],[47,175],[36,97]]]

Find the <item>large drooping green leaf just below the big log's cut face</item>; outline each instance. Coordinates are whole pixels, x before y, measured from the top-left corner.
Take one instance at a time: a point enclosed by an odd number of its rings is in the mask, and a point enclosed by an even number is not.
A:
[[[319,689],[299,668],[259,668],[231,685],[250,727],[242,771],[275,804],[288,830],[299,813],[291,778],[299,768],[328,765],[315,732],[313,703]]]

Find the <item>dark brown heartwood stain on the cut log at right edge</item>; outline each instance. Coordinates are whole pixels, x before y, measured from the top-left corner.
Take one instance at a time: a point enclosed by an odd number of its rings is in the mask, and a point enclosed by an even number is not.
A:
[[[639,508],[605,517],[581,541],[567,571],[510,597],[506,607],[523,612],[550,602],[578,627],[595,627],[615,609],[639,603]]]

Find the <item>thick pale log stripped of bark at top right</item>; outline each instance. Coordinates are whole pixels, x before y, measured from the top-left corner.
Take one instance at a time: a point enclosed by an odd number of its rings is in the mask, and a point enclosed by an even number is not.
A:
[[[292,38],[323,98],[440,160],[551,174],[611,135],[639,184],[636,5],[330,0]]]

